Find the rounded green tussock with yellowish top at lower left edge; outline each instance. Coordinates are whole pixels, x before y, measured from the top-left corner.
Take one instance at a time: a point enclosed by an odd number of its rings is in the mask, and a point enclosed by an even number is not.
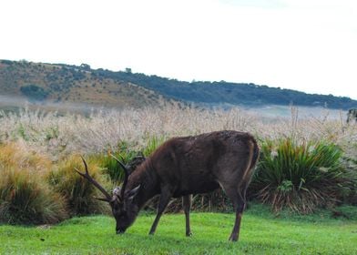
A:
[[[53,224],[67,218],[64,199],[38,173],[0,167],[0,222]]]

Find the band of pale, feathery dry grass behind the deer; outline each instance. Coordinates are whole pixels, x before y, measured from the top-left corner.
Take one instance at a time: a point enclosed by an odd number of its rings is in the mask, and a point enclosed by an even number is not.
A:
[[[259,139],[327,140],[351,153],[357,144],[357,125],[347,125],[344,116],[331,118],[326,111],[321,117],[299,117],[298,108],[291,108],[291,117],[262,117],[239,108],[208,110],[177,105],[103,110],[88,117],[25,109],[19,115],[0,113],[0,121],[0,143],[17,141],[27,151],[55,160],[117,148],[120,141],[141,148],[148,137],[170,138],[222,129],[249,131]]]

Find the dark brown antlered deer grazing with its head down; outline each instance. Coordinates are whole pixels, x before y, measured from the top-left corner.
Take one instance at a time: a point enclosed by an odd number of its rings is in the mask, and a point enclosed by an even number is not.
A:
[[[125,173],[121,187],[115,188],[112,195],[89,175],[83,157],[86,172],[78,169],[76,172],[105,196],[100,200],[110,205],[117,221],[117,234],[123,234],[137,219],[139,210],[159,195],[157,215],[149,234],[155,233],[169,200],[182,197],[186,236],[189,237],[191,195],[207,193],[220,187],[232,201],[235,212],[229,240],[237,241],[246,206],[246,191],[259,154],[260,148],[250,133],[223,130],[170,138],[130,174],[127,166],[111,155]]]

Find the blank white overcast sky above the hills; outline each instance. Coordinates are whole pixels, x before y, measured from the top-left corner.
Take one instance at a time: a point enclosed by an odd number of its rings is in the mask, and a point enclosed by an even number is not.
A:
[[[0,28],[0,59],[357,99],[356,0],[1,0]]]

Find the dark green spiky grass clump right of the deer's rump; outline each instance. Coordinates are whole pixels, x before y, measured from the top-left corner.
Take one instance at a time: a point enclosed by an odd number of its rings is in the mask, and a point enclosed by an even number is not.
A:
[[[333,206],[349,187],[341,159],[342,149],[329,142],[267,140],[250,190],[276,211],[308,213]]]

